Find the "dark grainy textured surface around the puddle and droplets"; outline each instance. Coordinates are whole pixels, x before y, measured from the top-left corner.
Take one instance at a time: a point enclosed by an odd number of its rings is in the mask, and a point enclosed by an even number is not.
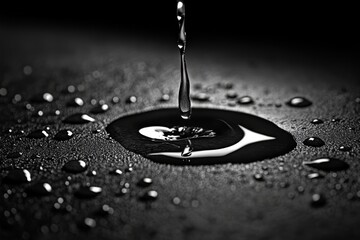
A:
[[[261,116],[292,133],[297,147],[284,156],[256,163],[182,167],[153,163],[128,152],[105,131],[123,114],[176,106],[176,45],[144,41],[142,37],[7,27],[0,29],[0,35],[0,87],[8,90],[7,96],[0,97],[1,239],[360,238],[357,52],[329,49],[312,53],[313,49],[193,42],[188,50],[192,84],[213,86],[215,92],[210,103],[193,105]],[[32,66],[30,76],[23,73],[26,65]],[[226,90],[216,87],[218,82],[233,83],[239,96],[250,95],[255,104],[228,106]],[[80,85],[83,91],[62,93],[70,84]],[[52,103],[33,104],[35,111],[25,109],[34,94],[45,91],[54,95]],[[169,102],[159,103],[162,91],[170,92]],[[12,104],[17,93],[22,100]],[[125,104],[130,95],[137,96],[138,101]],[[66,105],[75,96],[85,101],[83,107]],[[119,103],[111,103],[114,96],[120,98]],[[294,96],[304,96],[313,105],[303,109],[286,106]],[[91,99],[105,100],[110,110],[90,114],[96,119],[93,123],[62,122],[72,113],[89,113]],[[61,111],[59,116],[54,114],[55,109]],[[38,110],[44,116],[34,117]],[[313,118],[324,123],[311,124]],[[331,121],[333,118],[339,121]],[[48,138],[26,138],[28,133],[47,126]],[[70,129],[74,137],[54,140],[60,129]],[[99,133],[94,132],[97,129]],[[310,136],[320,137],[325,146],[304,146],[302,141]],[[340,145],[349,145],[352,150],[339,151]],[[22,156],[7,157],[16,151]],[[302,162],[318,157],[338,158],[350,167],[310,180],[307,174],[316,170],[303,167]],[[96,170],[97,175],[64,172],[64,163],[72,159],[84,160],[88,170]],[[129,165],[134,170],[125,173]],[[5,183],[3,177],[15,167],[27,168],[32,183]],[[117,168],[124,173],[109,174]],[[257,173],[264,181],[255,180]],[[137,186],[143,177],[151,177],[153,184]],[[49,182],[53,192],[43,197],[24,196],[26,187],[37,182]],[[129,193],[119,196],[125,182],[130,183]],[[74,192],[87,183],[102,187],[102,193],[93,199],[76,198]],[[139,201],[147,190],[156,190],[158,198]],[[312,207],[313,193],[321,193],[325,205]],[[68,212],[53,210],[58,197],[71,206]],[[172,203],[174,197],[180,198],[179,205]],[[112,207],[114,213],[97,214],[103,204]],[[94,218],[96,227],[79,224],[85,217]]]

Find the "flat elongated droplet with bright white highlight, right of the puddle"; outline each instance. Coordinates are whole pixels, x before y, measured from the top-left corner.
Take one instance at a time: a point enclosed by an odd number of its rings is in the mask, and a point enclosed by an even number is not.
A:
[[[304,161],[303,164],[327,172],[342,171],[349,168],[349,164],[336,158],[318,158],[312,161]]]

